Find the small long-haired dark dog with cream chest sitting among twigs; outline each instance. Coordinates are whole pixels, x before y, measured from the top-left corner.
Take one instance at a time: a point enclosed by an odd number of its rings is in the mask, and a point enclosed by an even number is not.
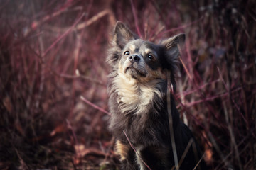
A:
[[[167,80],[170,76],[175,89],[178,45],[183,44],[185,35],[174,35],[154,44],[117,21],[112,38],[107,56],[112,68],[107,88],[109,128],[117,139],[115,147],[121,169],[177,168],[175,157],[178,169],[194,169],[201,159],[200,149],[191,130],[179,118],[174,96],[170,98],[170,128],[167,102]],[[191,139],[193,145],[188,145]],[[205,169],[203,161],[197,169]]]

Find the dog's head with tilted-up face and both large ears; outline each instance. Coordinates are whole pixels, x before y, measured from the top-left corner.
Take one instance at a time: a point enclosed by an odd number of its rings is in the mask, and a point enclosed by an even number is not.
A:
[[[174,76],[178,66],[178,44],[185,40],[184,34],[175,35],[158,44],[142,40],[124,23],[117,21],[114,28],[112,48],[107,61],[124,79],[149,82],[166,79],[166,71]]]

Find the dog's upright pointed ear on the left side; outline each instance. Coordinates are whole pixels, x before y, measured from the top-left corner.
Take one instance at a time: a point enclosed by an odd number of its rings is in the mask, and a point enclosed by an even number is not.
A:
[[[122,49],[130,40],[136,40],[139,36],[132,32],[124,23],[117,21],[114,27],[113,45]]]

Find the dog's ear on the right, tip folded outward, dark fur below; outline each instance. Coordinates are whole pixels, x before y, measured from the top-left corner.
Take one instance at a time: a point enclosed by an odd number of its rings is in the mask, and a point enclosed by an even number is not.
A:
[[[178,45],[181,46],[185,42],[185,34],[174,35],[171,38],[162,40],[160,45],[166,51],[164,67],[175,72],[178,67],[178,55],[180,55]]]

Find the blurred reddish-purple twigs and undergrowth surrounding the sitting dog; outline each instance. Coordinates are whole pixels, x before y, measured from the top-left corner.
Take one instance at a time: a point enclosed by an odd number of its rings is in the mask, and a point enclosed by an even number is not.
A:
[[[210,169],[256,169],[256,1],[0,1],[0,169],[119,169],[105,62],[116,21],[186,33],[176,105]]]

